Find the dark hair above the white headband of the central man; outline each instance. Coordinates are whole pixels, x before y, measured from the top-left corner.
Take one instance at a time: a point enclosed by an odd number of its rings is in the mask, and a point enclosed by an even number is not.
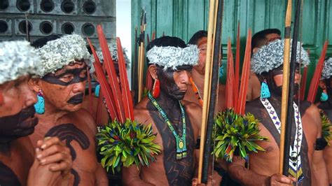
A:
[[[154,46],[173,46],[173,47],[179,47],[179,48],[186,48],[187,45],[184,43],[184,41],[181,38],[177,37],[171,37],[171,36],[162,36],[160,38],[155,38],[153,41],[148,43],[148,46],[146,47],[146,52],[148,50],[151,50]],[[146,58],[146,62],[148,64],[148,59]],[[150,66],[151,64],[148,64]]]

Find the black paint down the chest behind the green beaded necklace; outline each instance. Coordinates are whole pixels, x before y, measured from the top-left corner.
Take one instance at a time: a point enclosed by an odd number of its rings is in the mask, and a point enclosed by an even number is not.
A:
[[[160,103],[161,104],[161,103]],[[167,124],[162,119],[162,116],[158,113],[158,110],[148,102],[146,108],[150,110],[150,115],[155,123],[155,127],[158,129],[158,133],[162,137],[163,147],[163,163],[165,168],[166,177],[169,185],[191,185],[191,180],[194,176],[195,166],[195,138],[193,134],[193,127],[191,121],[186,115],[186,145],[187,145],[187,157],[184,159],[177,159],[176,156],[176,143],[175,138],[167,127]],[[165,110],[167,113],[167,111]],[[179,113],[181,113],[179,111]],[[167,115],[170,116],[170,115]],[[181,118],[181,116],[180,116]],[[171,118],[170,118],[171,120]],[[172,121],[172,120],[171,120]],[[173,125],[178,134],[182,134],[182,122],[179,120],[179,124]]]

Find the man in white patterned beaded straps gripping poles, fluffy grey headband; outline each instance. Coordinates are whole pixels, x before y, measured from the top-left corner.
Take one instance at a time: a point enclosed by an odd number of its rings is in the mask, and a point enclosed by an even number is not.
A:
[[[309,64],[307,52],[299,44],[296,53],[297,63],[304,66]],[[321,161],[322,152],[315,150],[317,138],[321,138],[319,110],[307,101],[300,105],[293,104],[295,121],[291,123],[289,173],[295,178],[278,173],[283,54],[284,41],[276,40],[259,49],[251,59],[251,70],[258,74],[261,82],[269,86],[270,97],[261,96],[260,99],[247,103],[247,112],[254,114],[260,121],[261,136],[268,137],[269,141],[257,142],[266,151],[249,155],[249,169],[244,168],[243,159],[235,157],[228,164],[228,171],[242,185],[282,185],[296,181],[299,185],[327,185],[326,166]],[[297,66],[295,90],[299,83]]]

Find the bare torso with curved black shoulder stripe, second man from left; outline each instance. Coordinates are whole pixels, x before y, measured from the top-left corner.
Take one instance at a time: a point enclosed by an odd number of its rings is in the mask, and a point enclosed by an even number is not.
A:
[[[96,129],[92,117],[84,110],[67,113],[58,118],[55,123],[48,117],[37,115],[39,124],[34,134],[30,136],[33,144],[46,136],[57,136],[64,142],[73,159],[74,185],[96,185],[97,157],[95,134]]]

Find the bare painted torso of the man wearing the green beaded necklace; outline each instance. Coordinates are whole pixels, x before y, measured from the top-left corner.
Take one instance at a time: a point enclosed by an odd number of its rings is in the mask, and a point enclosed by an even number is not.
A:
[[[184,101],[183,105],[186,110],[187,157],[181,160],[176,159],[175,138],[172,132],[151,102],[145,98],[135,108],[135,119],[144,124],[152,124],[153,132],[157,134],[154,142],[161,148],[161,153],[155,162],[151,162],[148,167],[141,167],[139,173],[141,180],[153,185],[191,185],[195,174],[195,144],[200,132],[197,126],[201,122],[202,111],[199,106],[188,101]],[[181,136],[182,124],[179,126],[173,124],[173,126]],[[127,172],[123,173],[123,176],[130,177]],[[127,184],[131,185],[125,183]]]

